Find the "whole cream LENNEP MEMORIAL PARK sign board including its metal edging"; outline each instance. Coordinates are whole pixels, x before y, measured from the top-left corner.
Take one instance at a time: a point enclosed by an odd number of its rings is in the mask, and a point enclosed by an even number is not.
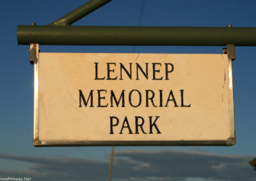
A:
[[[34,145],[234,145],[221,54],[40,53]]]

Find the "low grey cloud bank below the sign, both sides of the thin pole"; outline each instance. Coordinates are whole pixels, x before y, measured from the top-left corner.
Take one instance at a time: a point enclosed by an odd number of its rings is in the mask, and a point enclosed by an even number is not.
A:
[[[0,170],[1,177],[33,180],[108,180],[109,162],[74,157],[28,157],[0,154],[2,159],[26,161],[25,171]],[[113,181],[125,180],[256,180],[250,156],[231,156],[181,150],[119,150]]]

